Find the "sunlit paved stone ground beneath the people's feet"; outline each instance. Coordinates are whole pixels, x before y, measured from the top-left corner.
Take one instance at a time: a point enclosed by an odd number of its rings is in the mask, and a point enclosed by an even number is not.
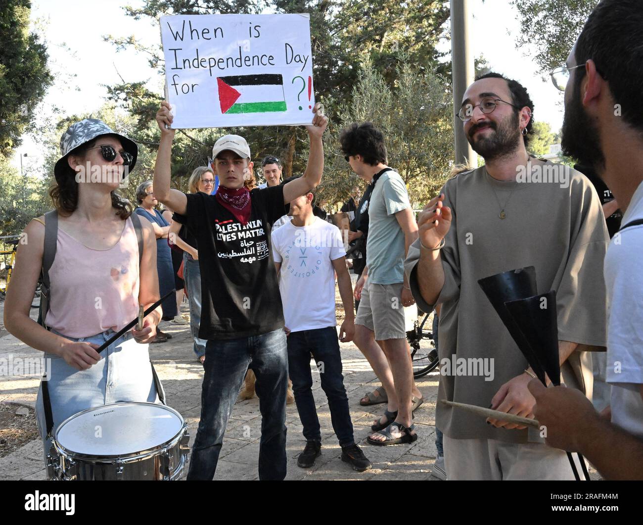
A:
[[[4,304],[0,303],[0,320]],[[32,310],[32,314],[35,310]],[[162,323],[161,329],[173,335],[164,344],[150,345],[150,356],[165,387],[168,405],[176,409],[189,425],[190,445],[194,441],[201,412],[201,382],[203,367],[192,353],[188,328]],[[410,445],[373,447],[366,437],[375,416],[384,405],[361,407],[359,398],[377,387],[378,382],[367,360],[352,343],[340,343],[344,365],[344,384],[349,396],[350,414],[356,442],[373,464],[372,470],[355,472],[340,459],[341,448],[332,430],[328,401],[321,390],[320,376],[313,367],[313,392],[321,423],[322,449],[311,469],[296,465],[296,458],[305,446],[294,403],[287,406],[287,479],[430,479],[435,461],[435,400],[437,373],[418,383],[424,394],[424,405],[415,412],[415,428],[419,438]],[[0,326],[0,359],[39,358],[41,352],[27,347]],[[0,403],[16,402],[35,405],[39,376],[0,376]],[[257,458],[261,416],[257,398],[235,405],[228,428],[215,479],[258,479]],[[184,471],[183,477],[187,469]],[[46,479],[40,439],[30,441],[12,454],[0,458],[0,480]]]

